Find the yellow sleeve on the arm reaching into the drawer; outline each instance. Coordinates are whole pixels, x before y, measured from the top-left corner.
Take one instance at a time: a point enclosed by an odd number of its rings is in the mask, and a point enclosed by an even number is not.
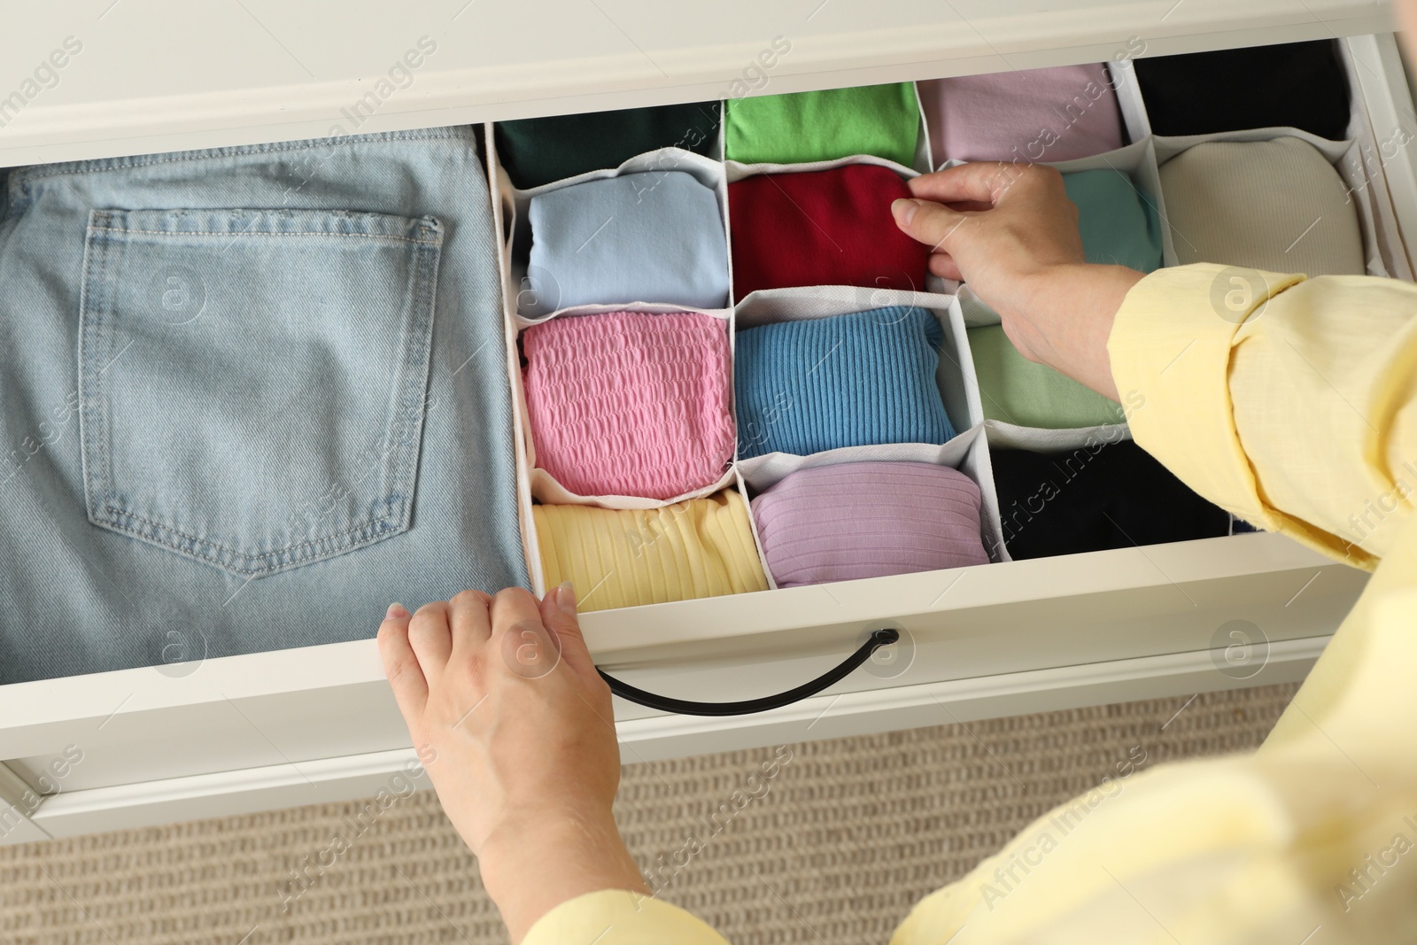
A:
[[[1132,288],[1108,351],[1142,448],[1223,509],[1370,570],[1417,489],[1414,315],[1397,279],[1178,266]]]

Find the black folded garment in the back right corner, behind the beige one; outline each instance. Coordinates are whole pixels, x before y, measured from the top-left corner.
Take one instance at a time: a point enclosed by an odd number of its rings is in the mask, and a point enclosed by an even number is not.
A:
[[[1333,40],[1134,60],[1156,135],[1298,128],[1348,137],[1348,77]]]

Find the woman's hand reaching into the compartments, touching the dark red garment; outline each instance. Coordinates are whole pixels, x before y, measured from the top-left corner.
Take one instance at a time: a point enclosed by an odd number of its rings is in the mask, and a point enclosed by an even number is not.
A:
[[[930,271],[961,279],[1024,357],[1117,400],[1107,336],[1142,273],[1088,265],[1063,176],[1040,164],[973,163],[910,181],[896,224],[928,244]]]

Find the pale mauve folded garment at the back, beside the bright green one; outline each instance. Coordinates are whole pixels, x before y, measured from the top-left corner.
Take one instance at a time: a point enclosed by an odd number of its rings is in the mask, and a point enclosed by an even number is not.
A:
[[[918,88],[937,167],[948,159],[1073,160],[1125,143],[1101,64],[961,75]]]

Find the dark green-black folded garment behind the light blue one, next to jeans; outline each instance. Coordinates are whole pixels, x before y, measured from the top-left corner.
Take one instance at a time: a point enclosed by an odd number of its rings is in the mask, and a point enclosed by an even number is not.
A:
[[[497,122],[493,136],[512,183],[530,190],[588,170],[619,167],[635,154],[660,147],[711,156],[721,111],[718,102],[693,102],[524,118]]]

